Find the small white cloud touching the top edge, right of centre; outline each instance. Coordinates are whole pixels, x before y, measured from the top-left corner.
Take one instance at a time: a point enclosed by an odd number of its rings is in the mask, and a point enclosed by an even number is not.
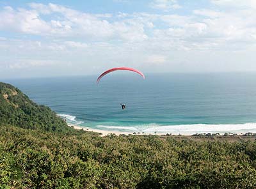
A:
[[[154,0],[152,3],[150,3],[150,7],[163,11],[181,8],[176,0]]]

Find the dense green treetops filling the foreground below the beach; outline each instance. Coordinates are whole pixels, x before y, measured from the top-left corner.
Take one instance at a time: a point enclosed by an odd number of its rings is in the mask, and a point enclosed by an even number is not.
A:
[[[256,142],[0,129],[2,188],[256,187]]]

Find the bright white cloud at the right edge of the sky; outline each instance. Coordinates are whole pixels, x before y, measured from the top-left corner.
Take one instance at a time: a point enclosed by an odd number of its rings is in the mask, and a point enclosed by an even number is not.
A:
[[[225,3],[224,1],[221,2]],[[254,37],[256,12],[252,11],[251,8],[247,10],[228,9],[228,11],[225,9],[221,11],[205,9],[194,10],[193,12],[195,15],[205,17],[202,19],[202,22],[207,26],[205,36],[222,38],[223,42],[240,43],[240,45],[241,42],[246,42],[247,45],[256,42]],[[244,49],[247,45],[244,44],[240,48]]]

